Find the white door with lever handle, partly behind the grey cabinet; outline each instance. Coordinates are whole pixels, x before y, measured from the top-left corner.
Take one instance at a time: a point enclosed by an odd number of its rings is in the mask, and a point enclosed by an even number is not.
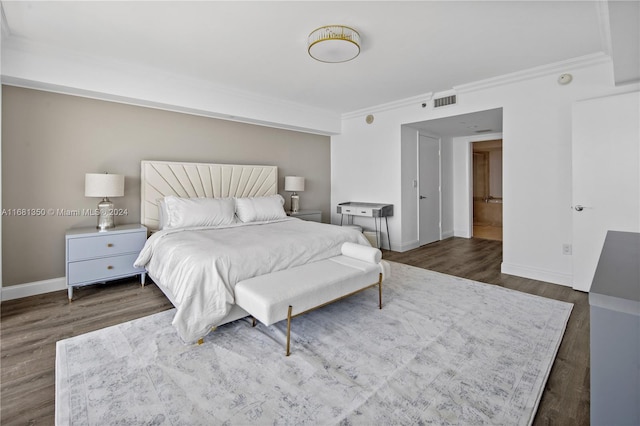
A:
[[[607,231],[640,232],[640,95],[573,106],[573,288],[589,291]]]

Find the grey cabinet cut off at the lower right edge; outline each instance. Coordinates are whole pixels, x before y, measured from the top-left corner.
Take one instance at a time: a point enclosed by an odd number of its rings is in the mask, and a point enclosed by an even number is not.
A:
[[[591,424],[640,424],[640,234],[609,231],[589,293]]]

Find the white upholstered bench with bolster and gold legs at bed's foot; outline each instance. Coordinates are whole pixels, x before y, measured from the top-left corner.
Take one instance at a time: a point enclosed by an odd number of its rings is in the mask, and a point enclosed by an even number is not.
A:
[[[382,281],[388,264],[381,258],[377,248],[344,243],[340,256],[239,282],[235,302],[267,326],[286,319],[289,356],[292,318],[376,285],[382,309]]]

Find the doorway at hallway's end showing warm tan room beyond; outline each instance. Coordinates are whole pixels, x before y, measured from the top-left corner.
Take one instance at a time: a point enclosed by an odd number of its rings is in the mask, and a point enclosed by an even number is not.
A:
[[[502,241],[502,139],[472,142],[473,237]]]

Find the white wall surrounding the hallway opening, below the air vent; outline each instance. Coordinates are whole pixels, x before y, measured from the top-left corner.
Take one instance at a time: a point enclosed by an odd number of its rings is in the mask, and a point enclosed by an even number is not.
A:
[[[564,72],[574,77],[566,86],[557,83]],[[566,62],[455,89],[455,106],[422,108],[414,98],[344,117],[342,134],[331,138],[332,204],[393,203],[391,244],[394,249],[410,247],[417,237],[405,231],[415,219],[402,211],[401,126],[503,108],[503,272],[570,285],[571,257],[562,255],[562,244],[572,239],[571,105],[628,89],[614,87],[611,62],[602,59]],[[365,123],[366,114],[376,116],[373,124]],[[446,195],[453,198],[456,235],[462,228],[461,217],[468,217],[459,211],[461,188],[468,182],[460,172],[466,167],[461,166],[460,156],[468,155],[467,148],[459,142],[451,143],[453,187]],[[332,219],[340,220],[336,214]]]

